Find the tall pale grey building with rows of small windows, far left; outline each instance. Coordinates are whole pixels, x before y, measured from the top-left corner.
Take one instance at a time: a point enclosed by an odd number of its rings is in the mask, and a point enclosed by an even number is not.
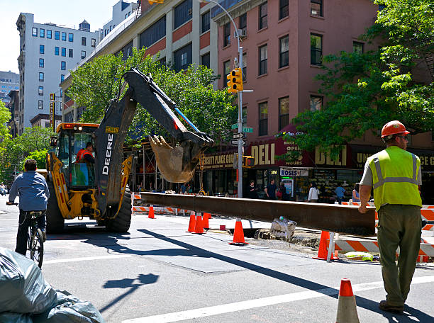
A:
[[[99,35],[90,31],[87,21],[72,29],[35,23],[33,18],[32,13],[21,13],[16,21],[20,33],[18,135],[30,127],[35,115],[50,113],[50,93],[60,100],[60,82],[94,50]],[[60,115],[62,108],[59,103],[56,106]]]

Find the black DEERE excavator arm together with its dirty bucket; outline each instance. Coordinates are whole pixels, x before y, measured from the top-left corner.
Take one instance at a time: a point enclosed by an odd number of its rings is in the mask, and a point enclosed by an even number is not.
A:
[[[183,116],[195,132],[190,132],[177,118],[176,104],[152,80],[138,69],[123,74],[128,89],[123,98],[111,101],[109,108],[95,132],[95,179],[97,200],[102,215],[108,208],[117,212],[126,183],[123,183],[123,143],[133,120],[137,103],[140,103],[157,123],[169,132],[177,145],[171,147],[162,137],[150,136],[158,169],[169,182],[181,183],[191,179],[199,164],[199,156],[213,146],[213,140]],[[174,110],[174,111],[173,111]],[[180,113],[180,111],[179,111]],[[182,115],[182,113],[180,113]]]

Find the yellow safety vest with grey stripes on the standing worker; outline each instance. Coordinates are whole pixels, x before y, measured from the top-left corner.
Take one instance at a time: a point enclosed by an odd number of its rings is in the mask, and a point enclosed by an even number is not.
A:
[[[372,171],[377,211],[385,204],[422,206],[418,189],[419,157],[397,146],[390,146],[369,157],[368,163]]]

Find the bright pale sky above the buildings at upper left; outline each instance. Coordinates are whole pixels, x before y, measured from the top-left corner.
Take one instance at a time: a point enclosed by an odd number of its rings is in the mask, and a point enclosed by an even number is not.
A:
[[[118,0],[0,0],[0,71],[18,73],[20,37],[16,21],[21,12],[33,13],[35,23],[56,23],[79,28],[84,19],[91,31],[111,19],[111,7]],[[127,2],[133,2],[127,1]]]

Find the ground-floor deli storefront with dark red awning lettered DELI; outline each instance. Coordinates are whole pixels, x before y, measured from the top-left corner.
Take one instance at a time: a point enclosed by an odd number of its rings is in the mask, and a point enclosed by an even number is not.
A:
[[[271,179],[275,179],[277,186],[284,183],[291,200],[307,200],[311,181],[315,181],[320,189],[320,202],[334,203],[335,188],[339,185],[345,188],[345,197],[349,200],[354,184],[362,178],[366,159],[384,147],[345,145],[342,148],[336,159],[316,150],[302,152],[301,157],[294,162],[285,162],[279,155],[299,150],[298,146],[284,142],[282,138],[251,142],[245,147],[243,155],[253,157],[255,163],[251,168],[243,168],[243,196],[247,196],[249,182],[254,180],[260,189],[258,195],[263,198],[264,188]],[[429,194],[434,190],[434,150],[408,148],[408,151],[421,158],[423,203],[434,204],[433,194]],[[232,196],[237,193],[237,173],[234,168],[236,153],[234,148],[217,154],[206,154],[204,188],[207,193],[214,196],[226,193]]]

